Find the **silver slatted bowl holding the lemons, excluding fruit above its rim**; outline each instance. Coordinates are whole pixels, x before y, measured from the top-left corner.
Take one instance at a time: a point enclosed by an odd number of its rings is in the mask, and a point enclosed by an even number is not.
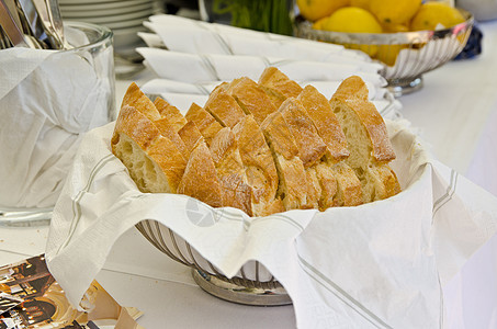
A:
[[[295,20],[298,37],[362,49],[383,65],[381,75],[395,97],[422,87],[422,75],[444,65],[462,52],[473,27],[473,15],[459,9],[465,22],[450,29],[399,33],[342,33],[315,30],[302,16]]]

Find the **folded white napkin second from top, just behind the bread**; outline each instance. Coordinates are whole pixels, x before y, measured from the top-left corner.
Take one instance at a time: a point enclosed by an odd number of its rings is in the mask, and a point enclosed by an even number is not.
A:
[[[320,63],[289,58],[271,58],[248,55],[184,54],[158,48],[136,49],[159,78],[183,82],[233,80],[249,77],[257,80],[264,68],[279,68],[293,80],[343,80],[358,75],[363,80],[384,84],[374,67],[355,64]]]

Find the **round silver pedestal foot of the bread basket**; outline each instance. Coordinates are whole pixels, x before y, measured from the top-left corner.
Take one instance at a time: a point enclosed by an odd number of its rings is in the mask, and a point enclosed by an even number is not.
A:
[[[292,304],[292,299],[283,287],[268,290],[237,285],[196,269],[192,269],[192,276],[202,290],[228,302],[252,306],[282,306]]]

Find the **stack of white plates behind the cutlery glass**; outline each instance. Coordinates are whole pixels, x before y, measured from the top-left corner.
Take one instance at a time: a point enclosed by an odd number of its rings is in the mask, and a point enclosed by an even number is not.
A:
[[[139,46],[143,22],[158,12],[156,0],[59,0],[64,20],[104,25],[114,32],[114,48],[126,53]]]

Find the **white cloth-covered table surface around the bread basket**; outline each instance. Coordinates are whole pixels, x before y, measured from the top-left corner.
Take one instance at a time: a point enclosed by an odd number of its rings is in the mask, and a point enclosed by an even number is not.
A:
[[[420,91],[400,98],[402,113],[439,160],[497,195],[497,21],[479,26],[483,55],[426,73]],[[117,103],[128,83],[117,81]],[[0,264],[43,253],[47,235],[48,227],[0,227]],[[118,239],[97,280],[121,305],[143,310],[145,328],[295,327],[292,306],[241,306],[204,293],[136,229]],[[448,328],[497,328],[496,237],[444,287],[444,303]]]

